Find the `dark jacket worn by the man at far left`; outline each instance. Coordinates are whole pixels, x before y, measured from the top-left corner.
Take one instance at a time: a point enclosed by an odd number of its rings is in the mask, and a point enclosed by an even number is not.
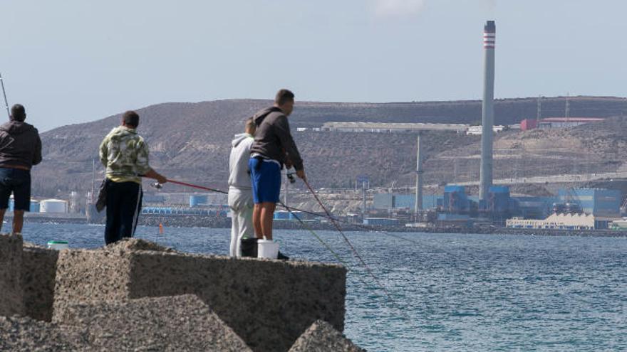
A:
[[[41,162],[41,139],[32,124],[10,121],[0,126],[0,167],[26,166]]]

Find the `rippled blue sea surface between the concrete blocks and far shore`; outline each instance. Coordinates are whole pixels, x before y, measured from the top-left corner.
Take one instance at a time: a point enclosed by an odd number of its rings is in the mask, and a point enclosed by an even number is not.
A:
[[[24,239],[100,247],[103,230],[28,223]],[[349,265],[344,334],[368,351],[627,350],[627,238],[346,233],[375,279],[338,233],[317,234]],[[228,229],[136,237],[184,252],[229,247]],[[337,262],[307,231],[275,238],[291,257]]]

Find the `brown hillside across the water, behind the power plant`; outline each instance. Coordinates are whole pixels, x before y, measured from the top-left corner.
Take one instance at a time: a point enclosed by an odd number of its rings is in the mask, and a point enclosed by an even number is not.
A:
[[[220,100],[166,103],[138,112],[140,134],[150,145],[151,164],[173,179],[226,188],[232,135],[265,100]],[[497,124],[535,117],[536,100],[498,100]],[[564,100],[546,98],[544,116],[559,116]],[[627,103],[611,97],[571,97],[571,116],[608,117],[627,111]],[[119,124],[120,115],[74,124],[42,134],[44,161],[33,170],[33,194],[63,196],[91,187],[91,162],[98,144]],[[415,170],[415,136],[410,134],[348,134],[296,132],[330,121],[457,122],[480,120],[480,102],[297,103],[290,117],[306,171],[316,187],[348,186],[368,174],[372,186],[408,186]],[[624,159],[624,119],[561,131],[507,132],[495,142],[495,178],[559,174],[591,169],[616,169]],[[478,178],[479,137],[450,132],[425,135],[425,182]],[[622,148],[621,148],[622,146]],[[616,149],[621,150],[616,150]],[[575,161],[575,162],[574,162]],[[102,166],[97,164],[98,171]],[[98,176],[101,177],[101,176]],[[182,190],[168,186],[168,190]]]

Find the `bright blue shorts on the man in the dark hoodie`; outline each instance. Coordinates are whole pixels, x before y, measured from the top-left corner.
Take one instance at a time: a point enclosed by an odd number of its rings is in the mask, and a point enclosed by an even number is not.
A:
[[[275,161],[251,158],[248,161],[248,168],[254,203],[279,203],[281,166]]]

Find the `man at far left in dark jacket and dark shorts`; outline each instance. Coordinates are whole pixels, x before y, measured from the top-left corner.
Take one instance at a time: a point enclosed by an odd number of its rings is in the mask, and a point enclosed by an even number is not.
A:
[[[13,233],[22,232],[24,212],[31,210],[31,167],[41,162],[39,132],[24,119],[24,106],[16,104],[0,126],[0,227],[13,193]]]

